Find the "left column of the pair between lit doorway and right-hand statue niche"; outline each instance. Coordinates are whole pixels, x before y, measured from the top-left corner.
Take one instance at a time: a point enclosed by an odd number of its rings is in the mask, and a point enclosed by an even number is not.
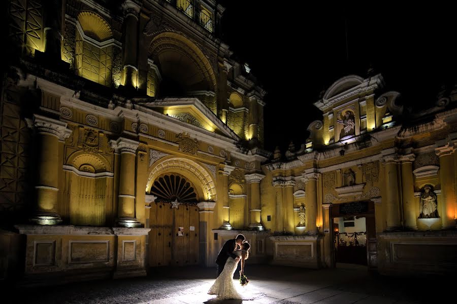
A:
[[[384,179],[386,187],[386,221],[387,231],[396,231],[400,229],[400,206],[397,178],[397,161],[398,156],[395,149],[382,151],[384,163]]]

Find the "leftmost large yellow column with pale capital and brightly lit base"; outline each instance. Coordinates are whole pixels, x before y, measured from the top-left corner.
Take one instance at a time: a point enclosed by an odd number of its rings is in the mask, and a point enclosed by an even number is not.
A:
[[[35,186],[37,193],[37,210],[30,221],[40,225],[55,225],[62,220],[58,209],[58,171],[63,164],[59,163],[59,140],[68,138],[72,130],[67,123],[34,115],[33,123],[27,121],[39,134],[40,148],[38,158],[38,180]]]

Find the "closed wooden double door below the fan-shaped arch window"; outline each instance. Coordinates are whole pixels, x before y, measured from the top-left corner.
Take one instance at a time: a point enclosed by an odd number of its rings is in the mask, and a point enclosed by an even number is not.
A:
[[[149,267],[198,264],[199,208],[156,202],[149,210]]]

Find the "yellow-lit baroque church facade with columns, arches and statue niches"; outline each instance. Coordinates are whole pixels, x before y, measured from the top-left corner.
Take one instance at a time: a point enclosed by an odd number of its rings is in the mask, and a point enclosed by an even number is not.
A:
[[[300,148],[270,153],[266,92],[220,40],[223,11],[8,2],[2,278],[213,267],[238,233],[251,263],[455,271],[457,90],[409,113],[380,74],[349,75],[314,103],[323,120]]]

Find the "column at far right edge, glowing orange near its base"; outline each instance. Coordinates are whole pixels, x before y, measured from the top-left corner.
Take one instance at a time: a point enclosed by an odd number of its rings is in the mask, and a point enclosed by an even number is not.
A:
[[[455,208],[456,193],[455,186],[455,167],[454,157],[452,156],[453,146],[449,142],[444,146],[435,148],[436,155],[440,158],[440,184],[441,200],[438,200],[438,210],[442,210],[439,216],[443,222],[443,229],[452,229],[455,227]],[[439,208],[439,204],[442,204]]]

